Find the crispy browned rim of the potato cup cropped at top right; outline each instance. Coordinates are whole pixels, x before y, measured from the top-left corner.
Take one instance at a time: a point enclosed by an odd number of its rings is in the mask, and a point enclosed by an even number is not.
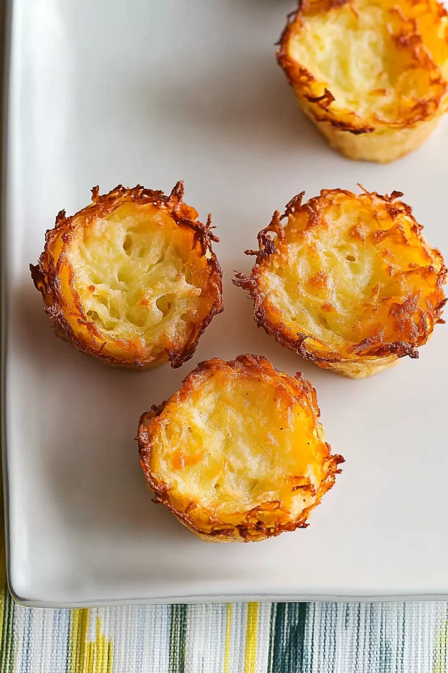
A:
[[[427,11],[433,13],[438,20],[448,15],[445,8],[435,0],[417,0],[417,3],[425,5]],[[308,103],[310,113],[316,122],[328,122],[334,129],[358,135],[361,133],[373,133],[373,131],[384,127],[395,129],[410,128],[419,122],[429,120],[439,114],[440,108],[445,102],[448,83],[424,46],[422,36],[418,32],[416,20],[414,19],[407,20],[406,29],[392,37],[397,48],[410,51],[415,62],[431,73],[431,87],[433,90],[431,98],[416,100],[409,114],[396,121],[388,121],[376,117],[374,125],[361,118],[354,110],[334,108],[332,102],[334,102],[335,98],[331,91],[327,87],[324,87],[324,93],[322,94],[322,82],[316,80],[312,72],[289,56],[289,39],[293,34],[300,32],[303,17],[311,5],[316,7],[316,11],[324,13],[343,5],[351,5],[351,0],[314,0],[312,2],[310,0],[302,0],[299,4],[298,9],[287,15],[285,28],[277,42],[277,62],[283,68],[289,84]],[[396,8],[396,11],[402,17],[399,7]],[[448,42],[448,34],[445,35],[445,38]]]

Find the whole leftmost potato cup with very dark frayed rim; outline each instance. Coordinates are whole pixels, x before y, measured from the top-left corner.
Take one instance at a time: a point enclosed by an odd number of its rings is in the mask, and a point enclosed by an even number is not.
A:
[[[222,273],[211,217],[137,185],[108,194],[46,232],[32,279],[56,334],[83,353],[123,367],[179,367],[222,312]]]

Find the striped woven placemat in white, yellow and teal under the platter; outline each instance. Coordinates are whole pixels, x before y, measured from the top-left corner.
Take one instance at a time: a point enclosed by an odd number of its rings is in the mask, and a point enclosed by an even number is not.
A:
[[[447,603],[44,610],[0,598],[1,673],[442,673]]]

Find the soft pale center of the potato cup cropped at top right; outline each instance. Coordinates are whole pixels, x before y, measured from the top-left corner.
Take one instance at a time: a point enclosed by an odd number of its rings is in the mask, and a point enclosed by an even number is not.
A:
[[[355,0],[323,13],[306,13],[289,54],[327,87],[332,106],[354,110],[369,122],[396,120],[404,108],[428,98],[431,79],[410,50],[393,36],[409,34],[406,7]]]

